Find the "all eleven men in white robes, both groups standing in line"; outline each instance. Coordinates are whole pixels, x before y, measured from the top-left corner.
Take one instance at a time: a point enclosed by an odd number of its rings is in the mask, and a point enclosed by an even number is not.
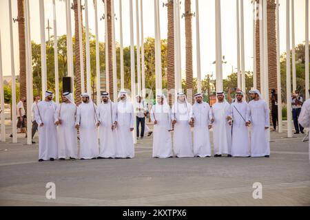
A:
[[[250,94],[249,104],[241,91],[229,104],[224,93],[218,92],[216,104],[210,107],[203,102],[203,94],[196,94],[192,105],[179,92],[172,109],[165,95],[158,94],[150,113],[154,122],[153,157],[211,157],[212,127],[214,157],[269,157],[269,109],[258,90]],[[39,162],[134,157],[134,106],[126,91],[118,94],[117,103],[104,92],[98,107],[87,93],[82,94],[79,107],[69,92],[63,93],[63,102],[58,105],[53,97],[46,91],[45,100],[34,107],[39,125]]]

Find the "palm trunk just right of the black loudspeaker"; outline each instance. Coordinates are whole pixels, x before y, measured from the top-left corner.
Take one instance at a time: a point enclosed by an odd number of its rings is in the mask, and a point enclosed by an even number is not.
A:
[[[81,1],[81,0],[79,0]],[[73,10],[74,10],[74,85],[75,85],[75,101],[76,104],[81,104],[81,92],[82,86],[85,88],[86,85],[81,85],[81,62],[80,62],[80,39],[79,39],[79,10],[78,10],[78,0],[73,0]],[[85,31],[83,28],[83,16],[81,8],[81,24],[82,24],[82,35]],[[82,37],[82,41],[83,41]],[[83,67],[85,67],[85,42],[83,41]],[[84,80],[86,82],[86,80]]]

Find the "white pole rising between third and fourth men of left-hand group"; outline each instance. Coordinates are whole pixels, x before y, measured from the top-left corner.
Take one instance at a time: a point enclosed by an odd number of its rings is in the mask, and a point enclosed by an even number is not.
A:
[[[100,56],[99,56],[99,33],[98,33],[98,3],[94,1],[95,12],[95,32],[96,32],[96,91],[97,91],[97,105],[101,102],[101,90],[100,90]]]

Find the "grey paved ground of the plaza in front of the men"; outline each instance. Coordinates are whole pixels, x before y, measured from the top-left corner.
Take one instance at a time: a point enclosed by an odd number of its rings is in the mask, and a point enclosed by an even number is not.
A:
[[[9,135],[10,131],[7,131]],[[152,159],[152,137],[134,159],[37,162],[38,145],[0,143],[1,206],[309,206],[308,143],[271,132],[270,158]],[[37,138],[36,138],[37,139]],[[46,199],[45,184],[56,184]],[[253,199],[255,182],[262,199]]]

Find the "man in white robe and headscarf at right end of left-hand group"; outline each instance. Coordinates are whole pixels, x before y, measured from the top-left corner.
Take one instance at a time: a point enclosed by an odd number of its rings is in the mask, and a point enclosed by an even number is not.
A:
[[[116,158],[134,157],[134,105],[128,99],[127,91],[118,94]]]

